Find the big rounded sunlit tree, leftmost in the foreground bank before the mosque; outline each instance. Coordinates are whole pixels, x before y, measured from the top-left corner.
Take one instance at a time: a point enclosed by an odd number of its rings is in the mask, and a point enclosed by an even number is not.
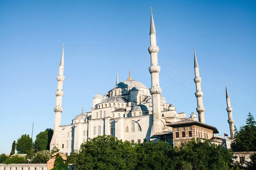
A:
[[[135,146],[136,147],[136,146]],[[133,170],[137,164],[135,147],[116,137],[98,136],[81,144],[76,170]]]

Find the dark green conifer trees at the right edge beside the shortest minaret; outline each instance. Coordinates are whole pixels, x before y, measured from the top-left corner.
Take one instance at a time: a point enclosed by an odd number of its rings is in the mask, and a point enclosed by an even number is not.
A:
[[[232,150],[240,151],[256,151],[256,121],[251,113],[248,114],[246,125],[235,128],[235,140],[232,144]]]

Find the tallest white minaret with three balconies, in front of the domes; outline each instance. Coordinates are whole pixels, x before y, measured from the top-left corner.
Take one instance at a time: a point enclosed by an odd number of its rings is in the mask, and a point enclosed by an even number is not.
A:
[[[152,8],[151,8],[151,22],[150,22],[150,47],[148,47],[148,52],[151,55],[151,66],[149,67],[149,72],[151,74],[151,88],[150,94],[152,95],[152,113],[153,113],[153,122],[152,122],[152,130],[151,135],[156,134],[157,132],[163,131],[163,121],[161,120],[161,106],[160,106],[160,96],[162,93],[162,88],[160,88],[159,84],[159,73],[160,66],[157,61],[157,53],[159,51],[159,47],[157,46],[157,38],[156,38],[156,29],[154,26]]]

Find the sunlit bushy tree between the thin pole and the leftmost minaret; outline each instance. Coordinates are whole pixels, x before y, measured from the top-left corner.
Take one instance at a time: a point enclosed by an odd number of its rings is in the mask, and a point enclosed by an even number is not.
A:
[[[48,144],[48,131],[44,130],[35,137],[34,149],[35,152],[46,150]]]

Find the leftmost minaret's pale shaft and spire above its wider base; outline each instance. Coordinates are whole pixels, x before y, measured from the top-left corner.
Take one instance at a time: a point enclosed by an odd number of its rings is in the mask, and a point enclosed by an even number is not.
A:
[[[55,112],[54,130],[61,125],[61,113],[63,111],[62,96],[64,95],[62,88],[63,88],[64,79],[65,79],[65,77],[63,76],[63,73],[64,73],[64,44],[63,44],[62,55],[61,55],[61,63],[59,67],[59,75],[57,76],[58,87],[57,87],[57,91],[55,91],[56,106],[54,107],[54,112]]]

